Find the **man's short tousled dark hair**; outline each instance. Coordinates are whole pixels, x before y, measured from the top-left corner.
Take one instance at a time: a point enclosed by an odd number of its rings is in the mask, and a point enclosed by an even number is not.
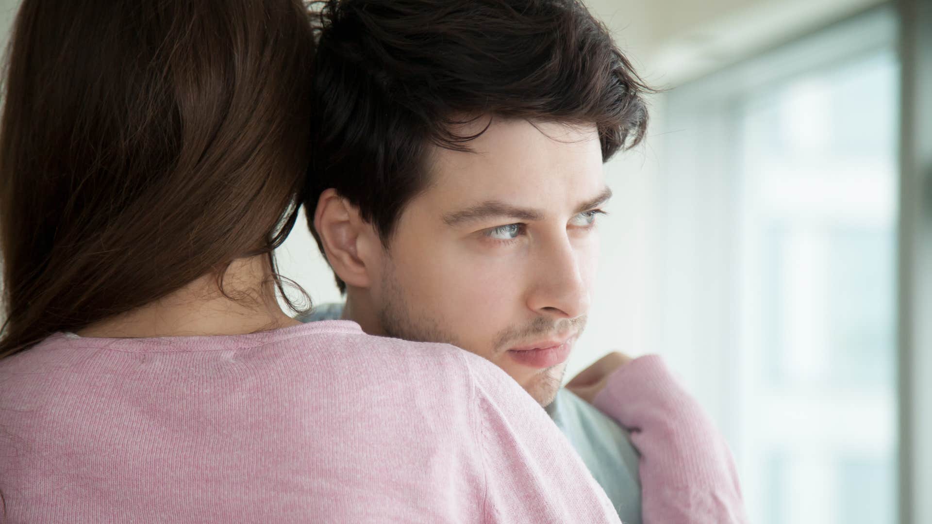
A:
[[[456,132],[464,120],[595,124],[603,161],[644,138],[651,90],[576,0],[320,4],[304,204],[321,249],[313,216],[330,187],[388,246],[430,146],[468,151],[478,136]]]

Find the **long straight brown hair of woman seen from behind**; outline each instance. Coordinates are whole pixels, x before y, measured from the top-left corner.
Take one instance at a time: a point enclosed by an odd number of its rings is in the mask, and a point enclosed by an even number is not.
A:
[[[313,47],[300,0],[25,0],[0,128],[0,358],[270,256],[308,165]]]

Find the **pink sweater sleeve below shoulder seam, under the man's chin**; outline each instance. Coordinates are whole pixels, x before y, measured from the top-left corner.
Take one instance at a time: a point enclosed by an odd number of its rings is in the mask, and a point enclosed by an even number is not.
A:
[[[463,352],[484,460],[487,523],[619,523],[609,498],[543,409],[498,366]]]

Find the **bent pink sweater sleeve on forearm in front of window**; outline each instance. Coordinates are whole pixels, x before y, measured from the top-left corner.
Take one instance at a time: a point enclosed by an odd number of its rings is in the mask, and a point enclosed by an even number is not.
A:
[[[631,432],[644,524],[746,523],[732,453],[657,355],[615,371],[595,406]]]

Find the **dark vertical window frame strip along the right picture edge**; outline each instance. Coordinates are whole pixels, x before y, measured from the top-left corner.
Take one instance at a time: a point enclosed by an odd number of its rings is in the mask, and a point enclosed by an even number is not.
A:
[[[921,524],[932,522],[932,0],[899,0],[897,7],[898,505],[900,522]]]

